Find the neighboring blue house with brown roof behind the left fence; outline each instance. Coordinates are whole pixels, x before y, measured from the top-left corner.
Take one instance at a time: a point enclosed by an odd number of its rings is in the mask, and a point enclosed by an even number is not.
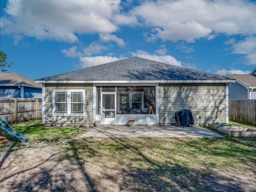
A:
[[[14,72],[0,72],[0,98],[42,98],[42,84]]]

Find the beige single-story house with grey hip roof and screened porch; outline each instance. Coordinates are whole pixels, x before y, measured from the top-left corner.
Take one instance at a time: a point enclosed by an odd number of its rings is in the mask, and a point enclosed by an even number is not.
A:
[[[43,84],[45,125],[172,125],[181,109],[192,111],[195,124],[228,122],[234,80],[133,57],[36,82]]]

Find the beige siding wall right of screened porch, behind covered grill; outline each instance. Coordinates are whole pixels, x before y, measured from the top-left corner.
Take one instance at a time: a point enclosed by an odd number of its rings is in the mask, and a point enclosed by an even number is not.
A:
[[[189,109],[194,124],[226,122],[226,84],[159,84],[159,124],[175,124],[175,112]]]

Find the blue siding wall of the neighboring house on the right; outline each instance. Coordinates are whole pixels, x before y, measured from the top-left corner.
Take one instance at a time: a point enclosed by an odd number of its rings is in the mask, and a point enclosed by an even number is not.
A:
[[[248,99],[248,90],[238,82],[229,84],[228,98],[229,99]]]

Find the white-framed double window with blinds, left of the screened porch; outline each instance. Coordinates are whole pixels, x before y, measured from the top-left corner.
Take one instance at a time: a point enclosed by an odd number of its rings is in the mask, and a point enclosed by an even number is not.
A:
[[[85,115],[85,90],[53,90],[53,115]]]

